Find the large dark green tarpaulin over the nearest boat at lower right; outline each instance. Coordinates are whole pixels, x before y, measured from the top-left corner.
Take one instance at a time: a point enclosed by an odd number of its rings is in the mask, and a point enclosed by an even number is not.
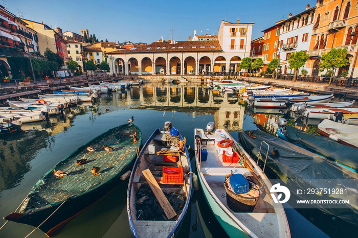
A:
[[[329,206],[315,204],[314,206],[324,213],[358,224],[357,173],[271,134],[260,130],[251,132],[256,138],[251,138],[248,135],[248,131],[239,132],[239,141],[242,147],[255,159],[258,156],[261,141],[269,144],[270,150],[265,170],[269,168],[279,179],[287,179],[285,180],[287,182],[285,186],[300,199],[312,199],[312,195],[298,195],[296,194],[296,189],[347,188],[349,193],[344,195],[317,196],[317,199],[349,199],[349,204],[344,204],[346,208],[337,208],[334,204]],[[277,150],[276,155],[272,153],[273,148]],[[263,161],[266,157],[266,152],[267,146],[262,145],[260,159]],[[334,180],[338,179],[341,181],[340,184],[334,182]]]

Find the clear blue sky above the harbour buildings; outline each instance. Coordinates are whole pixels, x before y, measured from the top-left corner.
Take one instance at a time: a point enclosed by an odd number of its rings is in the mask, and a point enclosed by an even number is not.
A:
[[[114,1],[114,0],[0,0],[8,11],[23,14],[25,19],[60,27],[62,32],[80,34],[86,28],[99,40],[110,42],[151,43],[163,38],[188,40],[197,34],[217,35],[221,20],[240,23],[254,22],[252,39],[262,36],[261,31],[273,26],[288,14],[316,6],[316,0],[306,1]],[[207,30],[209,29],[209,30]]]

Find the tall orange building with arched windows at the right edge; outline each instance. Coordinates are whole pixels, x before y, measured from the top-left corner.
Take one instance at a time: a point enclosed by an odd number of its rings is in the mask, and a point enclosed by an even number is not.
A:
[[[306,63],[308,74],[318,76],[326,74],[319,73],[319,63],[323,53],[331,49],[345,48],[348,51],[349,63],[335,72],[340,76],[344,71],[348,77],[358,77],[356,61],[358,51],[358,3],[357,0],[350,1],[327,1],[318,0],[315,13],[315,23],[309,46],[309,60]],[[355,70],[354,70],[355,68]],[[354,71],[353,71],[354,70]]]

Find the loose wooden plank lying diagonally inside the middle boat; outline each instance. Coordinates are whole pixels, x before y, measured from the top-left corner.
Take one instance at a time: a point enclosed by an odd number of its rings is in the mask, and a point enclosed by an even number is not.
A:
[[[159,204],[163,208],[163,211],[168,219],[171,219],[176,216],[176,212],[174,211],[173,207],[170,205],[168,199],[165,197],[162,189],[160,188],[158,182],[156,182],[155,178],[153,177],[152,173],[149,169],[142,171],[145,179],[148,182],[148,185],[153,191],[153,194],[156,199],[158,199]]]

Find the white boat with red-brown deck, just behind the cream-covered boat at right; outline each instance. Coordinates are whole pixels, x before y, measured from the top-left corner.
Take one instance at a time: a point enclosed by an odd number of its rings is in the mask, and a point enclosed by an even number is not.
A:
[[[315,107],[307,107],[302,112],[302,116],[308,118],[317,118],[317,119],[332,119],[335,121],[334,113],[342,112],[344,115],[346,113],[357,113],[358,107],[338,107],[338,108],[315,108]],[[347,123],[346,123],[347,124]]]

